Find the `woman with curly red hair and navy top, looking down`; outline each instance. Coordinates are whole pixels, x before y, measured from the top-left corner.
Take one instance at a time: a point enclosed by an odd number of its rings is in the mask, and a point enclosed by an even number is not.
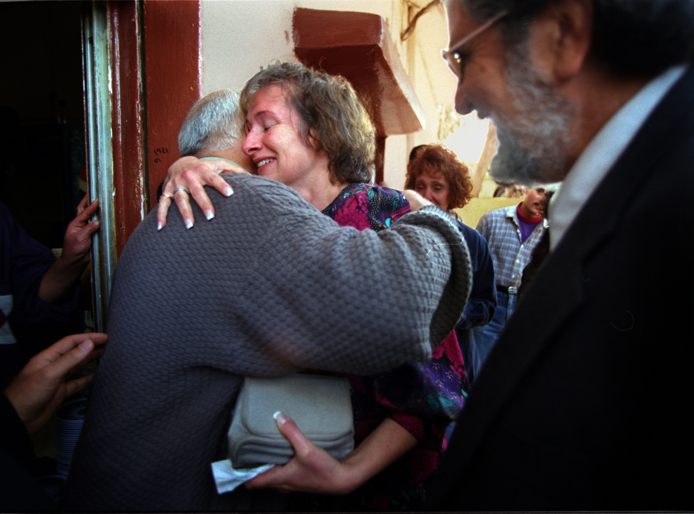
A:
[[[407,165],[405,189],[414,189],[431,203],[448,211],[455,218],[468,243],[473,265],[473,289],[455,332],[465,361],[468,381],[472,384],[482,366],[472,329],[486,325],[493,318],[496,311],[496,282],[489,246],[484,237],[465,225],[453,210],[465,207],[472,197],[473,183],[468,167],[446,146],[427,145]]]

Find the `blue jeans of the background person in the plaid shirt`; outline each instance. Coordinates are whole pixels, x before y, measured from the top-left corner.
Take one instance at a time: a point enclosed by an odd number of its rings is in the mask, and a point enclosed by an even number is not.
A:
[[[518,295],[496,291],[497,304],[494,317],[488,324],[472,329],[468,343],[469,355],[463,356],[466,359],[465,369],[471,384],[475,381],[475,377],[480,374],[482,364],[506,326],[506,321],[511,317],[511,314],[514,314],[517,299]]]

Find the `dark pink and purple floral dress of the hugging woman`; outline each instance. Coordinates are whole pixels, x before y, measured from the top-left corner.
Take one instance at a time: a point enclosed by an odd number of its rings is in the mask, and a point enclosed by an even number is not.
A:
[[[345,187],[323,214],[342,226],[382,230],[410,212],[400,191],[368,184]],[[378,323],[378,313],[365,313]],[[446,449],[446,427],[463,407],[468,391],[455,331],[434,351],[431,361],[402,366],[373,377],[350,376],[355,414],[355,445],[384,418],[407,429],[418,445],[347,498],[338,510],[409,511],[422,508],[428,479]],[[348,500],[348,502],[346,502]],[[314,505],[325,508],[327,505]]]

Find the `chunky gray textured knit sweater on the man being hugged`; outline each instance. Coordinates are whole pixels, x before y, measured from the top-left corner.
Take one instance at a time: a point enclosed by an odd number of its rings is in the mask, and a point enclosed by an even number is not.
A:
[[[121,255],[68,510],[256,508],[210,471],[244,375],[425,361],[464,309],[468,250],[439,209],[359,232],[278,182],[224,176],[214,220],[185,230],[171,212],[158,232],[152,212]]]

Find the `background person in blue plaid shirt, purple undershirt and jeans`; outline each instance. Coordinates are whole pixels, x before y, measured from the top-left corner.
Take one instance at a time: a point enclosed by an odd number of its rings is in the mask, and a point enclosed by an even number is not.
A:
[[[518,287],[521,286],[523,268],[530,262],[532,252],[549,224],[541,214],[542,187],[523,188],[525,199],[516,207],[504,207],[487,212],[477,223],[477,232],[489,245],[496,276],[497,307],[487,325],[473,328],[471,338],[472,362],[468,378],[476,377],[484,359],[501,334],[506,320],[516,306]]]

